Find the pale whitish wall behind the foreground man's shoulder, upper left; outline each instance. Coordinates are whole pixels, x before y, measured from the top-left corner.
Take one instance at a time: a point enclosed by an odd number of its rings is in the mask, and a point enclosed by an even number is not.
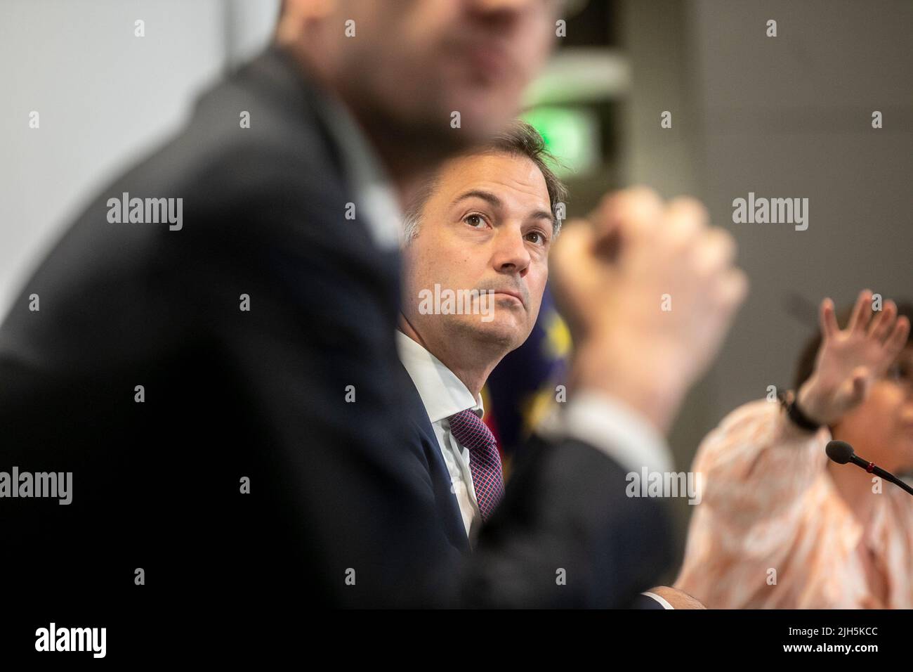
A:
[[[0,314],[85,201],[259,48],[278,0],[0,4]],[[134,21],[145,37],[134,37]],[[28,127],[29,113],[40,128]]]

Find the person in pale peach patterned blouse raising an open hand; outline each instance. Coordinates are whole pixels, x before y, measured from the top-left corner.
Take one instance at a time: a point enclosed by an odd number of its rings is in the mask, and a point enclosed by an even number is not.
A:
[[[913,608],[913,497],[828,460],[831,439],[892,473],[913,466],[913,306],[821,304],[783,403],[752,401],[701,443],[675,585],[709,608]]]

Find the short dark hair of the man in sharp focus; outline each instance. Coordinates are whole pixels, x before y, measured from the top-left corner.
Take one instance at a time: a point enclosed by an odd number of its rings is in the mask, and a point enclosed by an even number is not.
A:
[[[564,217],[564,214],[559,212],[558,208],[563,206],[567,200],[568,189],[551,169],[550,165],[557,166],[561,165],[561,163],[545,148],[545,141],[539,131],[530,126],[529,123],[516,120],[504,131],[489,140],[488,143],[473,147],[464,156],[483,154],[525,156],[539,168],[542,177],[545,178],[545,187],[549,192],[552,216],[551,229],[553,234],[557,236],[561,230],[561,219]],[[411,240],[418,232],[418,225],[422,219],[422,208],[425,208],[425,203],[434,193],[436,186],[437,176],[432,175],[425,180],[421,187],[416,189],[415,196],[405,210],[405,240]]]

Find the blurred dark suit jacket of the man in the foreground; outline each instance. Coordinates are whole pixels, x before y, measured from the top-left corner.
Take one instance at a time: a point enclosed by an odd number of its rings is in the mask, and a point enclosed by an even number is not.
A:
[[[629,603],[669,560],[665,513],[582,443],[530,445],[461,552],[404,412],[399,257],[345,219],[317,95],[268,50],[26,282],[0,329],[0,470],[72,472],[73,502],[0,500],[5,576],[49,605]],[[183,229],[109,223],[123,192],[183,197]]]

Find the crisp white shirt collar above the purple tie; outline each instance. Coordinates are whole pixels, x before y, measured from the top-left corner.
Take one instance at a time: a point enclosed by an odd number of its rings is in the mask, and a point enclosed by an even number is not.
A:
[[[434,423],[467,409],[482,417],[485,410],[481,396],[473,399],[472,392],[456,378],[453,371],[399,329],[396,330],[396,348],[409,378],[418,389],[418,396],[425,404],[428,420]]]

